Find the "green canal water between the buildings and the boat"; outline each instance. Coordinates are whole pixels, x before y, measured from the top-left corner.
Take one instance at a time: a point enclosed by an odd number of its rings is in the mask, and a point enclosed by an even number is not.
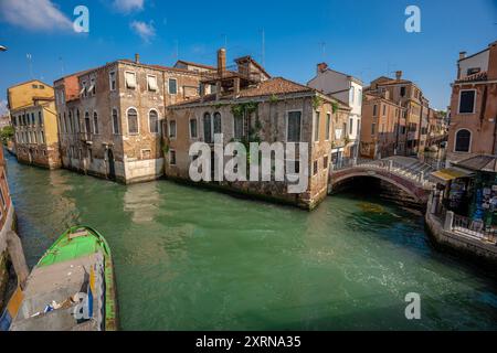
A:
[[[30,266],[67,227],[108,239],[124,330],[495,330],[497,284],[374,197],[315,212],[168,181],[124,186],[8,157]],[[405,319],[405,296],[422,319]]]

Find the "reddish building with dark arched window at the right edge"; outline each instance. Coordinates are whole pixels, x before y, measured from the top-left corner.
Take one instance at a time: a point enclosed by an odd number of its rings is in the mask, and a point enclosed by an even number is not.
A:
[[[497,153],[497,42],[459,54],[452,84],[447,160]]]

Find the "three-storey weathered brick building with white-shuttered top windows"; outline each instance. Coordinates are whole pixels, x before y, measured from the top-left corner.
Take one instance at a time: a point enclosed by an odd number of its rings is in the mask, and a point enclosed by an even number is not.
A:
[[[138,55],[56,81],[64,168],[123,183],[163,175],[165,109],[200,89],[199,72],[141,64]]]

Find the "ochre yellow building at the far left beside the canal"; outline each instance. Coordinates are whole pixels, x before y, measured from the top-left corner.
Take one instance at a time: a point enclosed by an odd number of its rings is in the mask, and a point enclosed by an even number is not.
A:
[[[49,169],[60,168],[53,87],[33,79],[8,88],[7,96],[18,160]]]

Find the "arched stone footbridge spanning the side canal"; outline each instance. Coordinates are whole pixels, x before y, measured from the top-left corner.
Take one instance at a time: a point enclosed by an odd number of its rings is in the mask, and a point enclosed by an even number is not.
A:
[[[347,160],[330,171],[328,191],[352,178],[380,179],[409,194],[416,203],[426,204],[433,183],[430,174],[434,169],[415,158],[391,157],[382,160]]]

